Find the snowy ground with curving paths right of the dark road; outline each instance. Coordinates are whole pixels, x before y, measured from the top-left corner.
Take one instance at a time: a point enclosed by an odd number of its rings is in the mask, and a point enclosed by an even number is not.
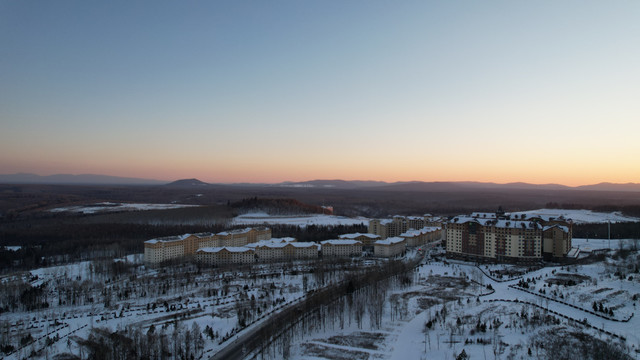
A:
[[[556,358],[557,348],[550,345],[554,339],[574,355],[587,351],[585,347],[613,344],[635,358],[640,349],[640,318],[635,316],[640,274],[627,265],[637,264],[639,257],[635,252],[626,260],[546,267],[504,282],[488,278],[472,264],[432,262],[419,268],[410,289],[397,292],[407,303],[408,316],[394,317],[388,301],[380,328],[329,325],[293,342],[292,358],[455,359],[464,350],[471,359],[546,359]],[[575,285],[554,280],[572,276]],[[483,286],[465,287],[461,279]],[[529,289],[516,286],[520,279],[529,279]],[[438,288],[443,282],[449,285]],[[488,285],[495,292],[489,292]],[[480,292],[484,294],[477,296]],[[614,309],[614,315],[594,312],[594,302]]]

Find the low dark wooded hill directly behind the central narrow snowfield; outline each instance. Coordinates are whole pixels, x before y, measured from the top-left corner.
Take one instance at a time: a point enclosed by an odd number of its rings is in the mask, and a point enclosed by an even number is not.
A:
[[[295,199],[245,198],[230,204],[239,213],[265,212],[269,215],[322,214],[322,206],[309,205]]]

